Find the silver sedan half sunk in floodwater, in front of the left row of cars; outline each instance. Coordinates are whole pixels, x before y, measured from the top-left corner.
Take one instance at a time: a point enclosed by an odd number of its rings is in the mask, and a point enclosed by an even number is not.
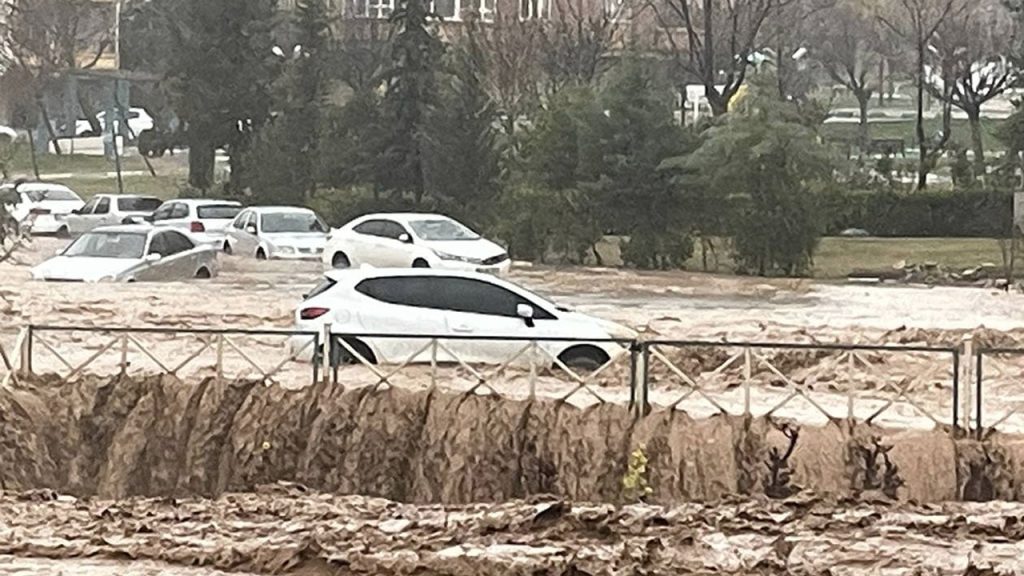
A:
[[[146,224],[96,229],[32,271],[52,282],[155,282],[213,278],[217,250]]]

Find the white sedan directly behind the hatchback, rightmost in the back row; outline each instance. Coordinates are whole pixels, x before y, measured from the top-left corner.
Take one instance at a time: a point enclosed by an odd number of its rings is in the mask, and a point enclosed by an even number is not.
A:
[[[511,260],[504,248],[447,216],[371,214],[328,237],[324,264],[335,269],[432,268],[503,275]]]

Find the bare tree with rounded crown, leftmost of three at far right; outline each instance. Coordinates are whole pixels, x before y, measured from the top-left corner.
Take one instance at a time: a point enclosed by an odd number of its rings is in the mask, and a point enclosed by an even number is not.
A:
[[[840,0],[817,12],[811,28],[811,55],[833,82],[857,99],[859,139],[861,147],[866,147],[867,107],[874,92],[882,90],[882,77],[876,76],[884,66],[880,24],[862,2]]]

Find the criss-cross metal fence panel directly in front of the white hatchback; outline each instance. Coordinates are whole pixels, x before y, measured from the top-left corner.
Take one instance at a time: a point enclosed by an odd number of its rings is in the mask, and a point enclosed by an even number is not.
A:
[[[632,340],[337,333],[331,340],[338,385],[441,386],[578,405],[633,397]]]

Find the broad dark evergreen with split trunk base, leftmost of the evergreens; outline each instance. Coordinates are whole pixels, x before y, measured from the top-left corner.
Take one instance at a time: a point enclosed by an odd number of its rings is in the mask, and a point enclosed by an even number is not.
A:
[[[168,17],[176,108],[188,129],[193,188],[213,184],[214,152],[226,147],[238,193],[244,157],[270,114],[269,59],[276,0],[180,0]]]

